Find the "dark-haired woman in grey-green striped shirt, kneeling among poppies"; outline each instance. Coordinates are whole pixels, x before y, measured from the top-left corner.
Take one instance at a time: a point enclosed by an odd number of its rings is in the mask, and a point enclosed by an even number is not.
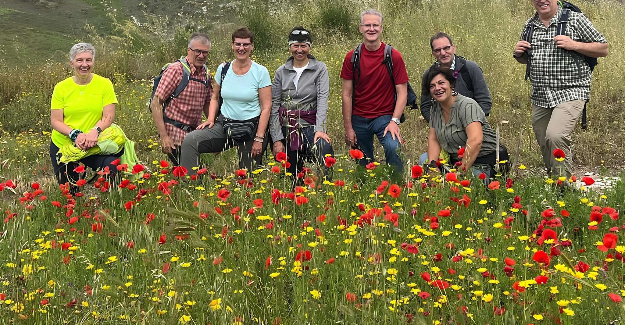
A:
[[[475,174],[494,176],[496,150],[501,161],[508,159],[506,148],[497,148],[496,135],[479,105],[454,91],[456,79],[452,71],[445,68],[432,69],[427,73],[423,91],[434,99],[430,116],[429,138],[427,140],[427,162],[439,159],[441,149],[447,151],[451,164],[459,164],[460,171],[474,168]],[[458,150],[464,149],[461,157]],[[507,168],[507,166],[504,166]]]

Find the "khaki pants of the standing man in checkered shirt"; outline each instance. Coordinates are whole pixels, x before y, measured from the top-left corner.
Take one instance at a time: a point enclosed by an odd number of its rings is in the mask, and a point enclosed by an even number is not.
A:
[[[532,126],[536,141],[541,148],[542,162],[549,174],[571,177],[571,134],[586,101],[573,100],[559,104],[555,108],[541,108],[533,105]],[[557,161],[554,149],[562,149],[564,161]]]

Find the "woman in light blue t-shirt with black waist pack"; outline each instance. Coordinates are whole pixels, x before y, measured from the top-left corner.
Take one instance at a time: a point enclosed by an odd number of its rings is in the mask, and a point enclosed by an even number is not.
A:
[[[247,27],[237,29],[232,34],[235,59],[220,64],[215,73],[208,119],[184,138],[181,166],[187,173],[197,173],[193,168],[199,165],[199,154],[232,147],[238,149],[240,169],[251,171],[261,163],[268,140],[271,79],[267,68],[249,58],[252,49],[254,34]]]

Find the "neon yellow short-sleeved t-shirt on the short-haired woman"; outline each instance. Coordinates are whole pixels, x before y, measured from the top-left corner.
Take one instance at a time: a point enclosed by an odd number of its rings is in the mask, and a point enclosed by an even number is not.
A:
[[[54,86],[51,110],[63,109],[63,122],[72,129],[89,131],[102,119],[104,106],[117,104],[113,83],[98,74],[91,82],[80,85],[69,77]],[[52,142],[59,148],[69,143],[68,136],[52,131]]]

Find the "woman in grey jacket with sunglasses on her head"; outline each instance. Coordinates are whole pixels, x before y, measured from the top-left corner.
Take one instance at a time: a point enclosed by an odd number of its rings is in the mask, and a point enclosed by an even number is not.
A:
[[[277,69],[271,86],[271,138],[274,155],[286,151],[287,171],[296,175],[304,161],[312,160],[327,176],[324,156],[332,154],[326,131],[330,84],[326,64],[309,54],[311,43],[304,27],[289,34],[292,56]]]

